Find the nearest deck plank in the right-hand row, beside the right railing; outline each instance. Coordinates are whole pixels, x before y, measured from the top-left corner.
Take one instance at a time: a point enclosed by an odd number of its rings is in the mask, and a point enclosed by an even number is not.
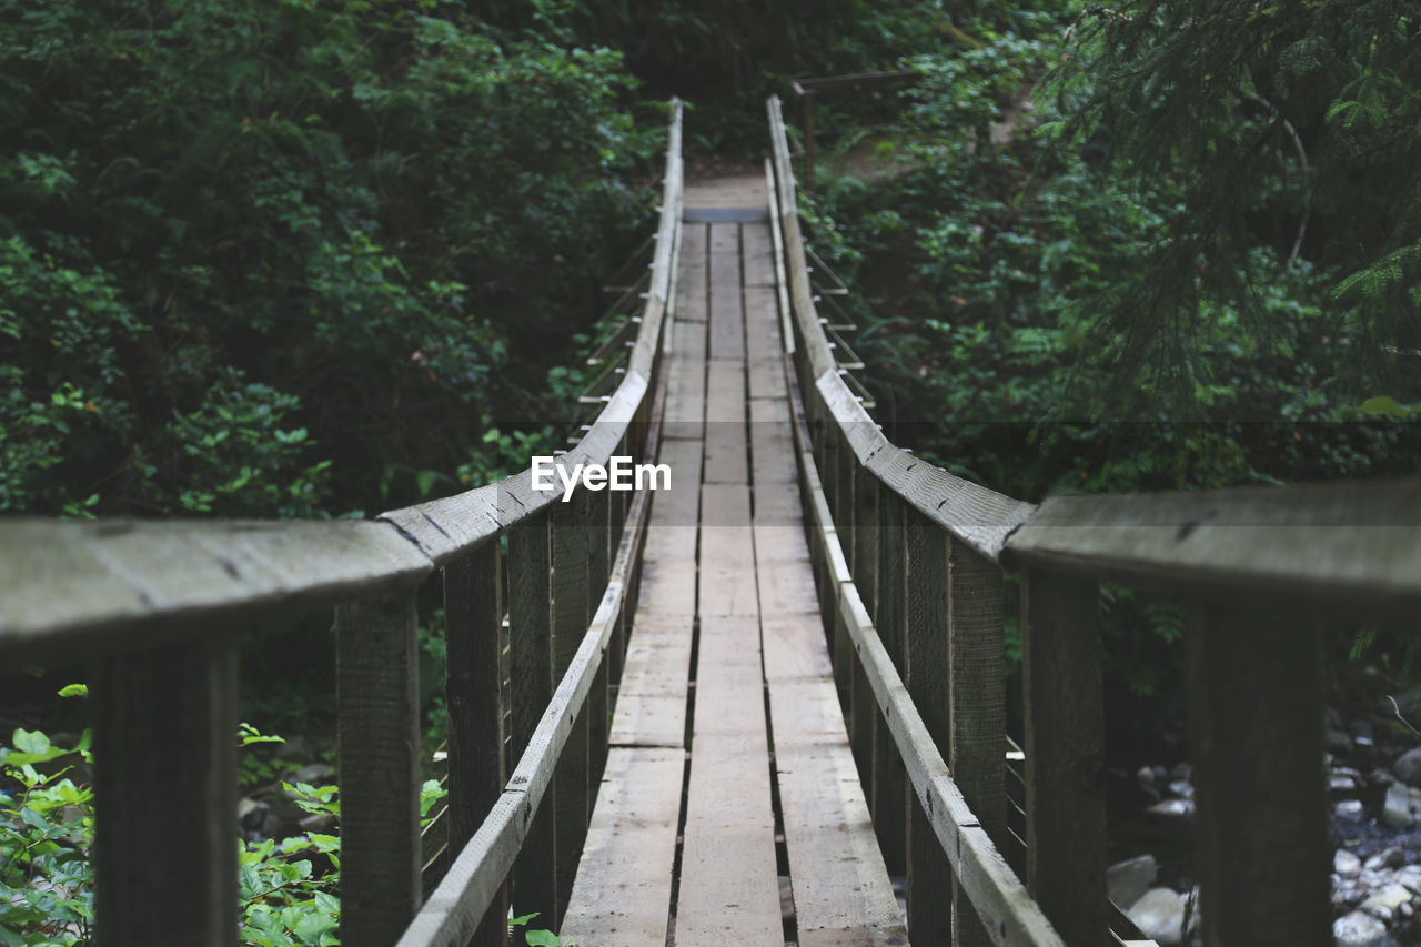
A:
[[[772,677],[770,721],[799,943],[907,944],[833,680]]]

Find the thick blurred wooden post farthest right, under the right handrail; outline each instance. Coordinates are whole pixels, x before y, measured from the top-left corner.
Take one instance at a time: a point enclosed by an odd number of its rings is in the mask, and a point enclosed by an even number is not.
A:
[[[1319,623],[1199,601],[1187,644],[1204,943],[1330,944]]]

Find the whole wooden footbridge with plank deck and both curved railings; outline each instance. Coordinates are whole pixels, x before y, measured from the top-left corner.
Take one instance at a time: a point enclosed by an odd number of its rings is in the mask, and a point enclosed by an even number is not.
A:
[[[671,489],[561,502],[524,471],[372,522],[0,523],[0,657],[94,665],[104,944],[236,943],[236,636],[323,607],[348,947],[503,944],[510,910],[584,947],[1148,943],[1106,896],[1106,579],[1187,607],[1205,943],[1330,943],[1320,630],[1414,630],[1421,482],[1036,506],[897,448],[820,316],[776,100],[769,127],[764,176],[685,185],[678,108],[644,306],[561,458]]]

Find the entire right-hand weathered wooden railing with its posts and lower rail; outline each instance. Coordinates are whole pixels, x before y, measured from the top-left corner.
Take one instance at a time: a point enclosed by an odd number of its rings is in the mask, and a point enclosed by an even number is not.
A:
[[[894,446],[820,328],[777,100],[769,114],[806,522],[860,775],[890,870],[908,874],[909,937],[1115,943],[1098,631],[1108,579],[1187,609],[1205,943],[1330,944],[1319,628],[1415,630],[1421,481],[1033,506]],[[1003,569],[1022,580],[1025,884],[1000,855],[1013,843]]]

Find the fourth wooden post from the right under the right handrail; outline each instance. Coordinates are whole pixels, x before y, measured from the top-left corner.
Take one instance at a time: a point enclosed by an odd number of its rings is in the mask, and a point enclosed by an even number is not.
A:
[[[942,529],[917,510],[904,512],[904,684],[934,742],[949,744],[948,543]],[[912,786],[908,799],[908,937],[952,943],[952,866]]]

